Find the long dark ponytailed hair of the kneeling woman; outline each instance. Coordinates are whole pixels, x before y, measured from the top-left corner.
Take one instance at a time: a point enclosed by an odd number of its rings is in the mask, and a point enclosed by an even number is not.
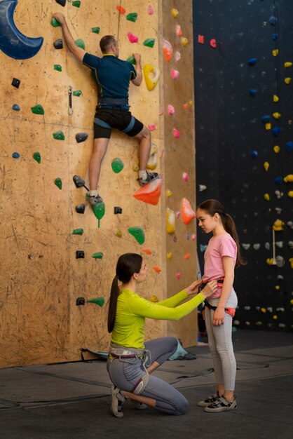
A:
[[[120,294],[118,281],[128,283],[132,274],[139,273],[141,268],[142,256],[137,255],[137,253],[125,253],[119,257],[116,265],[116,276],[114,277],[111,286],[108,311],[108,332],[113,331],[116,318],[117,299],[118,295]]]

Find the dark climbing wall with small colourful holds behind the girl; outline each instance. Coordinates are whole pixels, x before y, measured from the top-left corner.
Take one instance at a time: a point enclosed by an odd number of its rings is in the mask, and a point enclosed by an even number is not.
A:
[[[292,18],[292,0],[193,0],[197,203],[236,221],[241,328],[293,328]]]

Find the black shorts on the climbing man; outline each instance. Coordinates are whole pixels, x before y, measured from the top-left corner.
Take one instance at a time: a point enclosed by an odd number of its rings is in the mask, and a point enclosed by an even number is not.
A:
[[[134,137],[144,128],[144,124],[135,119],[128,110],[97,108],[94,121],[95,139],[109,139],[111,128],[116,128],[130,137]]]

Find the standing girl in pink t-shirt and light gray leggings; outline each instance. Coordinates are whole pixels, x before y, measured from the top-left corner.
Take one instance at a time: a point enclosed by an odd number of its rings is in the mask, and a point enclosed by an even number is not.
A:
[[[203,318],[207,328],[210,353],[214,363],[217,393],[199,401],[205,412],[236,410],[234,398],[236,360],[232,344],[232,316],[237,306],[233,289],[234,269],[244,265],[236,226],[217,200],[200,203],[196,210],[198,226],[212,238],[205,250],[203,282],[218,281],[217,292],[205,301]]]

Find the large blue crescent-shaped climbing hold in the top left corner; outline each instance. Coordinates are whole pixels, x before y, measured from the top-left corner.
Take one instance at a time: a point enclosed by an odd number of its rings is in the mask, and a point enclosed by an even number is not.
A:
[[[18,0],[2,0],[0,3],[0,50],[15,60],[27,60],[39,52],[43,37],[29,38],[15,26],[13,13]]]

